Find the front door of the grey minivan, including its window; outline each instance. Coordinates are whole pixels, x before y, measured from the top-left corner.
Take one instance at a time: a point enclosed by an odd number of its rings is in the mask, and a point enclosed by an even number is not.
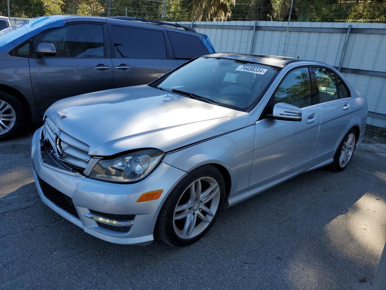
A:
[[[32,89],[39,115],[55,101],[98,90],[112,89],[106,24],[72,22],[34,38],[52,43],[55,56],[29,59]]]

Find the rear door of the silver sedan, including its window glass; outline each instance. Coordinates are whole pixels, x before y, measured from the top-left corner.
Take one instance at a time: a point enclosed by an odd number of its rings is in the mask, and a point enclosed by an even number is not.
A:
[[[318,85],[320,133],[312,153],[312,162],[332,157],[354,116],[355,104],[344,82],[332,70],[314,67]]]

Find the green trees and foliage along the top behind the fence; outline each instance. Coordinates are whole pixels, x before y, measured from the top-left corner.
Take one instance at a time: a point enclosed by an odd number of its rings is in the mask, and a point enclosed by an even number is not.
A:
[[[347,0],[346,0],[347,1]],[[50,14],[106,16],[107,0],[10,0],[11,16]],[[266,20],[287,21],[291,0],[166,0],[167,21]],[[111,16],[161,19],[161,0],[112,0]],[[7,15],[7,0],[0,0]],[[386,20],[386,0],[294,0],[291,21]]]

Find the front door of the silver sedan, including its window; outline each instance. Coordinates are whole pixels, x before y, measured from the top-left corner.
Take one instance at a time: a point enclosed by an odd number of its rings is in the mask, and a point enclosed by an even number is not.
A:
[[[255,153],[249,189],[274,181],[310,165],[320,127],[319,108],[313,105],[307,67],[290,71],[275,90],[269,105],[285,102],[302,108],[302,120],[262,119],[255,125]]]

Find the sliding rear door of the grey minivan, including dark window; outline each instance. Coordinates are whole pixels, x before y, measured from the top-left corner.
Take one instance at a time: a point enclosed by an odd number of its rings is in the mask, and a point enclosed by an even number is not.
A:
[[[165,29],[109,24],[108,31],[114,88],[147,84],[177,67]]]

